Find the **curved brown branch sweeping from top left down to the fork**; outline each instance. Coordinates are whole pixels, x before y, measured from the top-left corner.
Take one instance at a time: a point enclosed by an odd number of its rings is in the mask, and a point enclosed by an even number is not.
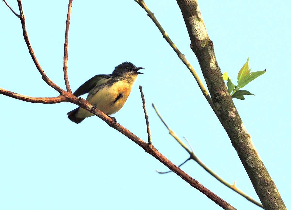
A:
[[[21,0],[17,0],[17,3],[18,3],[18,8],[19,8],[19,12],[20,12],[20,15],[17,16],[19,17],[20,21],[21,21],[21,25],[22,25],[22,31],[23,31],[23,37],[24,37],[24,40],[25,40],[25,43],[27,45],[27,48],[29,50],[29,54],[31,55],[31,58],[36,66],[36,68],[38,69],[38,71],[40,72],[41,76],[42,76],[42,79],[45,80],[45,82],[51,86],[52,88],[54,88],[56,91],[58,91],[59,93],[62,93],[64,90],[61,89],[60,87],[58,87],[58,85],[56,85],[52,80],[50,80],[45,72],[42,70],[42,68],[40,67],[40,64],[38,63],[38,60],[36,59],[36,56],[33,52],[33,49],[31,47],[31,44],[29,42],[29,39],[28,39],[28,35],[27,35],[27,31],[26,31],[26,25],[25,25],[25,17],[24,17],[24,13],[23,13],[23,9],[22,9],[22,3],[21,3]]]

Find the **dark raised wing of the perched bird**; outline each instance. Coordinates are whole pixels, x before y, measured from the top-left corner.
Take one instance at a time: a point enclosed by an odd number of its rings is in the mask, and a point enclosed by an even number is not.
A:
[[[92,77],[90,80],[85,82],[83,85],[81,85],[75,92],[74,95],[79,97],[85,93],[88,93],[93,87],[97,85],[101,85],[105,82],[107,82],[110,79],[110,74],[100,74]]]

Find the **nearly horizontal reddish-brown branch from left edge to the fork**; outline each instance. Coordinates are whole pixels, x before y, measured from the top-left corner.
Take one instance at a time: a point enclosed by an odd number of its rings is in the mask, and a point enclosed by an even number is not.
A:
[[[68,102],[68,97],[59,95],[57,97],[53,98],[39,98],[39,97],[31,97],[31,96],[24,96],[18,93],[11,92],[9,90],[0,88],[0,94],[3,94],[5,96],[9,96],[11,98],[16,98],[19,100],[31,102],[31,103],[60,103],[60,102]]]

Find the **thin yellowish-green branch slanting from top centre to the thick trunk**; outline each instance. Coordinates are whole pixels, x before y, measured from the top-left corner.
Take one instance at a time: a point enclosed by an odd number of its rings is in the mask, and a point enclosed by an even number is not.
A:
[[[217,118],[219,119],[219,121],[221,122],[220,116],[217,112],[217,110],[215,109],[213,102],[211,100],[210,95],[208,94],[208,91],[206,90],[206,88],[204,87],[202,81],[200,80],[198,74],[196,73],[196,71],[194,70],[194,68],[192,67],[192,65],[189,63],[189,61],[186,59],[185,55],[182,54],[180,52],[180,50],[176,47],[176,45],[173,43],[173,41],[170,39],[170,37],[168,36],[168,34],[166,33],[166,31],[163,29],[163,27],[161,26],[161,24],[159,24],[159,21],[157,21],[154,13],[152,13],[149,8],[145,5],[143,0],[134,0],[136,1],[148,14],[148,16],[150,17],[150,19],[152,19],[152,21],[155,23],[155,25],[158,27],[158,29],[160,30],[160,32],[162,33],[164,39],[169,43],[169,45],[172,47],[172,49],[175,51],[175,53],[177,53],[178,57],[180,58],[180,60],[182,60],[182,62],[186,65],[186,67],[189,69],[189,71],[192,73],[192,75],[194,76],[196,82],[198,83],[198,86],[200,87],[200,90],[202,91],[203,95],[205,96],[206,100],[208,101],[208,103],[210,104],[212,110],[214,111],[214,113],[216,114]]]

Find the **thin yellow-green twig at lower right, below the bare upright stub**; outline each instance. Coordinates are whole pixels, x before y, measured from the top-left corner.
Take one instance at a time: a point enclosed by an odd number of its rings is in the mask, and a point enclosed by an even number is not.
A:
[[[154,104],[152,104],[152,106],[154,107],[157,115],[159,116],[159,118],[161,119],[161,121],[164,123],[164,125],[166,126],[166,128],[169,130],[169,133],[171,134],[172,137],[174,137],[174,139],[176,139],[176,141],[178,141],[178,143],[189,153],[190,155],[190,159],[193,159],[194,161],[196,161],[202,168],[204,168],[204,170],[206,170],[208,173],[210,173],[214,178],[216,178],[219,182],[221,182],[222,184],[224,184],[225,186],[229,187],[230,189],[232,189],[233,191],[237,192],[238,194],[242,195],[244,198],[246,198],[247,200],[249,200],[250,202],[252,202],[253,204],[256,204],[257,206],[261,207],[264,209],[263,205],[257,201],[255,201],[253,198],[251,198],[249,195],[246,195],[244,192],[242,192],[240,189],[238,189],[235,184],[229,184],[228,182],[224,181],[221,177],[219,177],[216,173],[214,173],[210,168],[208,168],[202,161],[200,161],[200,159],[198,159],[198,157],[194,154],[193,152],[193,148],[191,147],[191,144],[189,143],[189,141],[186,139],[186,141],[188,142],[191,150],[181,141],[181,139],[179,139],[179,137],[175,134],[175,132],[173,132],[172,130],[170,130],[170,128],[168,127],[168,125],[165,123],[165,121],[162,119],[161,115],[159,114],[157,108],[155,107]],[[188,159],[186,160],[188,161]],[[185,162],[186,162],[185,161]],[[158,171],[157,171],[158,172]],[[171,171],[168,171],[171,172]],[[158,173],[168,173],[168,172],[158,172]]]

